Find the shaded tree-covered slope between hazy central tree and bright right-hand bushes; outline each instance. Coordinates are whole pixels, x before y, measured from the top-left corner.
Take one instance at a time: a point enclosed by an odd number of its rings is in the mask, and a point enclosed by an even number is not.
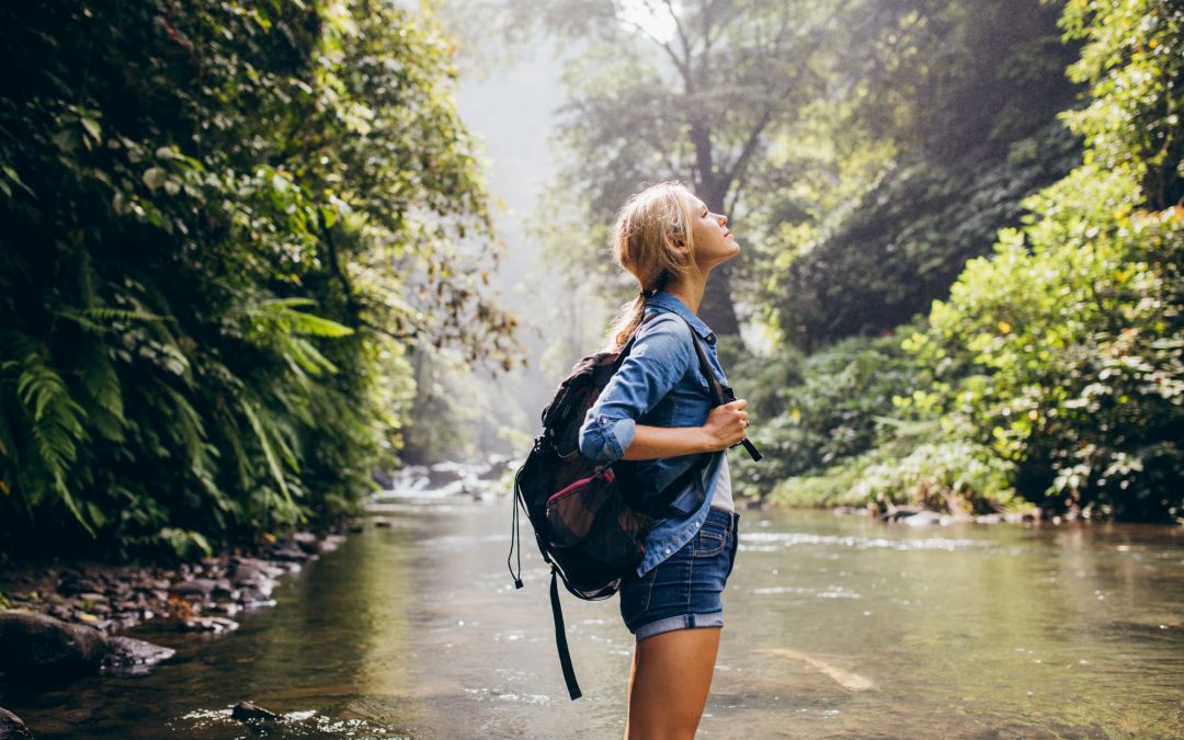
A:
[[[1050,4],[864,9],[836,52],[843,101],[813,114],[832,133],[811,139],[886,152],[862,170],[848,152],[842,163],[819,160],[818,146],[787,159],[802,174],[773,198],[752,272],[764,320],[807,352],[928,311],[1000,227],[1018,225],[1023,198],[1080,159],[1055,121],[1072,102],[1063,72],[1074,49],[1058,43]]]

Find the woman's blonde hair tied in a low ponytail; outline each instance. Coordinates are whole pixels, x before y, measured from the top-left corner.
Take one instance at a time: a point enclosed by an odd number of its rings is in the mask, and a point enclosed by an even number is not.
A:
[[[694,269],[690,189],[677,180],[651,185],[629,197],[612,229],[612,258],[639,283],[636,298],[613,316],[605,352],[620,352],[641,326],[645,298]]]

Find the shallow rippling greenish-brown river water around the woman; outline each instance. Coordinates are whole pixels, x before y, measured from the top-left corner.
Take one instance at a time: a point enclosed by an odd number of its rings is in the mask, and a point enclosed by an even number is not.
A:
[[[565,600],[570,702],[529,539],[526,587],[506,572],[508,502],[382,507],[393,527],[289,577],[237,633],[146,628],[178,650],[154,674],[8,687],[0,706],[39,738],[619,736],[616,601]],[[700,736],[1184,736],[1182,566],[1172,528],[744,513]],[[244,700],[285,718],[245,728]]]

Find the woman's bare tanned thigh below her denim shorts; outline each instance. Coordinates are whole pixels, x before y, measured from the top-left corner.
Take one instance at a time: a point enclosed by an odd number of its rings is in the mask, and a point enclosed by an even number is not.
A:
[[[720,628],[674,630],[646,637],[633,649],[625,738],[689,740],[712,688]]]

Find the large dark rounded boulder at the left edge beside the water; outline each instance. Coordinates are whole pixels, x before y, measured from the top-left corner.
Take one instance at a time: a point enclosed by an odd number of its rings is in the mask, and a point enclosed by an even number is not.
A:
[[[0,612],[0,670],[75,676],[98,670],[107,638],[90,628],[34,612]]]

